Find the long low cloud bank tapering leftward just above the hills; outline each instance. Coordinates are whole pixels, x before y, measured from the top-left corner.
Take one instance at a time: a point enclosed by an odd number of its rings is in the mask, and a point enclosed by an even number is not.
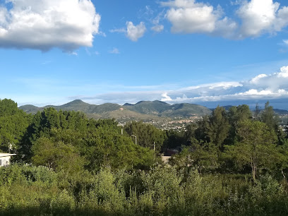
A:
[[[164,87],[161,86],[161,88]],[[275,73],[260,74],[250,80],[239,82],[208,83],[176,90],[147,89],[133,92],[109,92],[89,97],[70,97],[70,99],[81,99],[97,104],[103,102],[135,103],[140,100],[162,100],[171,104],[183,102],[196,104],[238,102],[238,104],[243,104],[248,101],[256,103],[258,101],[282,100],[287,104],[288,66],[283,66],[280,71]]]

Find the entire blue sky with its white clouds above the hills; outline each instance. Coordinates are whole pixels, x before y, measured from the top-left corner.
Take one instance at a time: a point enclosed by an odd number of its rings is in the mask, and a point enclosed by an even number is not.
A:
[[[0,0],[0,99],[288,109],[288,2]]]

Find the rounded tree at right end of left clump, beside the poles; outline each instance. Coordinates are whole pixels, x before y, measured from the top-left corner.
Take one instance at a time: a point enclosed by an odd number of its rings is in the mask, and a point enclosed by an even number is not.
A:
[[[83,138],[90,170],[99,170],[103,165],[112,168],[148,168],[153,163],[153,152],[135,145],[128,136],[121,136],[118,130],[103,126],[90,131]]]

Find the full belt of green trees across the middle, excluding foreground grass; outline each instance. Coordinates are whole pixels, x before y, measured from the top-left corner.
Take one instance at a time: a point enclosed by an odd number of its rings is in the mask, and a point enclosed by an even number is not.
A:
[[[198,166],[201,172],[279,172],[286,178],[287,131],[270,106],[254,114],[247,105],[226,111],[217,107],[210,116],[185,131],[162,131],[132,121],[124,128],[115,119],[88,119],[81,112],[44,109],[35,115],[18,109],[12,100],[0,100],[0,148],[17,153],[15,160],[52,169],[98,171],[149,169],[166,149],[182,148],[171,163]],[[136,138],[136,139],[135,139]],[[135,143],[137,142],[137,143]]]

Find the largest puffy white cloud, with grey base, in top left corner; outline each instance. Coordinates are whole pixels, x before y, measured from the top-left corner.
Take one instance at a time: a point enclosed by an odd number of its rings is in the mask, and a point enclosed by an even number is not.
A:
[[[92,47],[93,35],[100,33],[101,17],[90,0],[6,0],[6,4],[0,6],[0,47],[42,51],[58,47],[71,52]]]

